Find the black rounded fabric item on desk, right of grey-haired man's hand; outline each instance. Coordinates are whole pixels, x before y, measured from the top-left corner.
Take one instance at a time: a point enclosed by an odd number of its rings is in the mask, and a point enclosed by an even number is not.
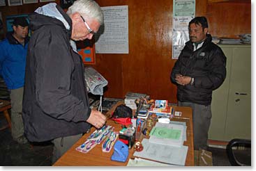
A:
[[[125,118],[125,117],[133,117],[133,110],[129,108],[128,106],[121,104],[116,107],[116,110],[114,111],[112,118]]]

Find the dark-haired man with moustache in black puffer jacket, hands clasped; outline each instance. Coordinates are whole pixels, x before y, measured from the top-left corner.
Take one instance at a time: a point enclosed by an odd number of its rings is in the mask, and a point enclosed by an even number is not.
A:
[[[226,77],[226,57],[208,34],[206,17],[195,17],[188,26],[190,41],[172,68],[179,106],[193,109],[194,148],[206,149],[211,124],[212,91]]]

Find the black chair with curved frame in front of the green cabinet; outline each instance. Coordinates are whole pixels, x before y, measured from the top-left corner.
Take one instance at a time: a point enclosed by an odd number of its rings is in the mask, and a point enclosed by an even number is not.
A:
[[[251,165],[251,141],[235,138],[226,147],[229,163],[234,166]]]

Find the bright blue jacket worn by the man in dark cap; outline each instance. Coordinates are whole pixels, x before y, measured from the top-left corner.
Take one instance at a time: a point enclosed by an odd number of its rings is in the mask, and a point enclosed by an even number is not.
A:
[[[24,86],[28,41],[27,37],[23,46],[12,33],[7,33],[6,38],[0,42],[0,74],[8,89]]]

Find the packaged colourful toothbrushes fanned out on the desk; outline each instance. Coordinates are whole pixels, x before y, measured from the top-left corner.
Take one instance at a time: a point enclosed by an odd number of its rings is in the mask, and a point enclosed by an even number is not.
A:
[[[110,125],[104,125],[101,129],[96,129],[91,133],[91,135],[86,139],[86,141],[76,148],[78,152],[87,153],[93,147],[103,142],[102,148],[103,152],[110,152],[116,138],[118,137],[118,133],[114,132],[114,127]]]

